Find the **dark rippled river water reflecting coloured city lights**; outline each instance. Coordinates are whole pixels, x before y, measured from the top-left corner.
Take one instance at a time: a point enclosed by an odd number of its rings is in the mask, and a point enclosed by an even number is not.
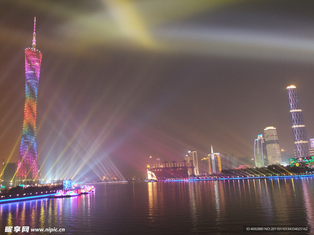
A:
[[[65,229],[12,234],[239,234],[243,225],[314,227],[314,177],[95,187],[95,196],[0,204],[0,234],[9,234],[5,226]]]

